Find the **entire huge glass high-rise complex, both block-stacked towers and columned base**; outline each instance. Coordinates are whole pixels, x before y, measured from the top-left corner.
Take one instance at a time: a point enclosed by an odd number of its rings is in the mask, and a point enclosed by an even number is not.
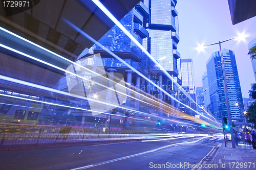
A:
[[[141,1],[120,20],[120,23],[160,63],[168,74],[176,82],[181,84],[180,54],[176,50],[177,43],[179,42],[178,13],[175,9],[176,3],[176,0],[169,2],[162,0]],[[164,75],[163,71],[119,27],[114,26],[98,42],[140,71],[148,79],[162,87],[165,91],[172,95],[177,91],[177,87],[175,85],[173,86],[173,82]],[[97,57],[88,58],[88,56],[98,53],[101,57],[100,61]],[[113,58],[113,56],[96,44],[90,49],[87,48],[84,50],[78,60],[82,61],[81,65],[84,67],[99,66],[98,64],[102,63],[105,71],[118,72],[123,75],[127,83],[165,102],[175,104],[174,100],[170,100],[161,90],[142,79],[134,71],[130,70],[116,58]],[[61,82],[67,86],[65,80],[59,81],[59,84]],[[129,105],[137,110],[142,109],[139,104],[133,101]],[[143,111],[162,115],[162,113],[158,113],[156,110]]]

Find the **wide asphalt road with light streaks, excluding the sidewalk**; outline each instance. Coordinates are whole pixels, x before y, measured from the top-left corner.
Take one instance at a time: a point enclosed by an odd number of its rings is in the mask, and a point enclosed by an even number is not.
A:
[[[0,169],[191,169],[189,164],[207,154],[210,159],[218,150],[214,147],[223,142],[211,137],[197,141],[201,138],[1,152]],[[188,165],[170,168],[170,163]]]

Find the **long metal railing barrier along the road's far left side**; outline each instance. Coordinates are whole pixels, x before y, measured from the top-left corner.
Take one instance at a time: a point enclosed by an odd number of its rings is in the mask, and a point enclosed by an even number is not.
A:
[[[123,130],[119,128],[0,124],[0,146],[138,139],[141,138],[141,135],[136,136],[135,134],[166,133],[166,131],[159,131],[153,128],[129,128]]]

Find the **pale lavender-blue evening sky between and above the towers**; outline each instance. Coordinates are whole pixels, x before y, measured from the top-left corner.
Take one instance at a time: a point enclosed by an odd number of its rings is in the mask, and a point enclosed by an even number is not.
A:
[[[206,61],[211,54],[219,51],[219,45],[212,45],[198,52],[199,44],[208,45],[224,41],[246,33],[245,41],[231,40],[222,43],[222,49],[234,51],[237,60],[240,84],[244,98],[248,98],[250,84],[255,83],[252,64],[248,53],[248,43],[256,38],[256,17],[232,25],[228,1],[179,1],[176,6],[179,12],[181,58],[191,58],[194,62],[195,86],[202,86],[202,76],[206,71]],[[195,10],[197,9],[197,10]],[[218,13],[216,9],[219,9]],[[193,15],[187,15],[191,13]],[[191,27],[193,26],[193,27]]]

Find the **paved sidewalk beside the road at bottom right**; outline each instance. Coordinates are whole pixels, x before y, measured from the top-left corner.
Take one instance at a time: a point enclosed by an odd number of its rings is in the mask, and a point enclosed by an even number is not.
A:
[[[238,147],[232,148],[229,141],[227,147],[222,143],[215,156],[206,163],[218,164],[218,167],[206,169],[256,169],[256,150],[251,145],[241,143]]]

